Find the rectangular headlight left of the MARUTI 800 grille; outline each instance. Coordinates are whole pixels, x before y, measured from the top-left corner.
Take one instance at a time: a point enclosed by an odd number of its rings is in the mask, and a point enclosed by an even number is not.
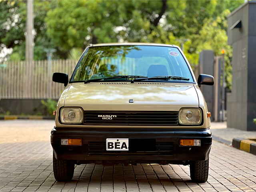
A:
[[[60,121],[64,124],[80,124],[83,121],[83,111],[81,108],[61,108]]]

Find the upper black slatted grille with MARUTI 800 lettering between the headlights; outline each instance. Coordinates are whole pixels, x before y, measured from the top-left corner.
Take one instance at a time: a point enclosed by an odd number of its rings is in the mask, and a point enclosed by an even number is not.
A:
[[[176,126],[177,111],[84,111],[84,125]]]

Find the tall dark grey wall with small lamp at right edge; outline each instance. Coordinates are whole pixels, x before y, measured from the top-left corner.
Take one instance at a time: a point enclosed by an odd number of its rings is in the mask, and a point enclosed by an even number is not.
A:
[[[238,20],[242,28],[231,28]],[[233,47],[232,92],[228,95],[228,127],[255,130],[256,118],[256,1],[249,1],[228,17],[228,43]]]

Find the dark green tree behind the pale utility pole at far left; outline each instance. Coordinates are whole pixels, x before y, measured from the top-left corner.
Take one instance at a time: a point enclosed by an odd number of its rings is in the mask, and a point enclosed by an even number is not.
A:
[[[55,1],[34,1],[34,60],[46,59],[46,48],[56,48],[46,35],[44,18]],[[25,59],[26,2],[0,0],[0,46],[12,48],[10,60]],[[57,52],[58,53],[58,52]],[[58,54],[61,54],[59,52]]]

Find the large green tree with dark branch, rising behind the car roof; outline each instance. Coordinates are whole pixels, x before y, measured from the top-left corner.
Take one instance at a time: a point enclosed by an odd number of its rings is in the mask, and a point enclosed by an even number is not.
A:
[[[180,45],[196,64],[194,41],[204,22],[215,20],[226,8],[242,1],[141,0],[141,1],[59,1],[46,17],[47,34],[54,44],[68,52],[90,43],[158,42]],[[223,29],[222,23],[218,23]]]

